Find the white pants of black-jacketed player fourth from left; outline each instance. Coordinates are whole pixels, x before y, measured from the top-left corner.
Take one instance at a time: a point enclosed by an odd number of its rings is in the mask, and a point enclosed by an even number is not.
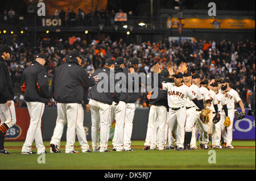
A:
[[[100,127],[100,151],[108,149],[111,105],[91,99],[89,101],[92,115],[92,147],[98,149],[98,129]]]

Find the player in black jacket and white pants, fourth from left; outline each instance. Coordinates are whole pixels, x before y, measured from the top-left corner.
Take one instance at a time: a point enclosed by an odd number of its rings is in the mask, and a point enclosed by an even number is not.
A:
[[[98,83],[89,92],[92,116],[92,148],[94,152],[110,151],[108,149],[108,140],[109,125],[111,124],[110,112],[113,102],[113,92],[110,92],[110,69],[114,69],[113,58],[107,58],[104,68],[94,71],[93,76],[98,75]],[[114,79],[112,83],[114,85]],[[99,125],[101,128],[100,145],[98,137]]]

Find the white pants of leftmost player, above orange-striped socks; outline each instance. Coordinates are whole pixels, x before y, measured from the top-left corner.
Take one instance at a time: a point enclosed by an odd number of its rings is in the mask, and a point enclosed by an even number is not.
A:
[[[9,129],[16,123],[16,112],[13,100],[11,101],[11,106],[7,106],[6,103],[0,104],[0,120],[0,125],[5,123]]]

